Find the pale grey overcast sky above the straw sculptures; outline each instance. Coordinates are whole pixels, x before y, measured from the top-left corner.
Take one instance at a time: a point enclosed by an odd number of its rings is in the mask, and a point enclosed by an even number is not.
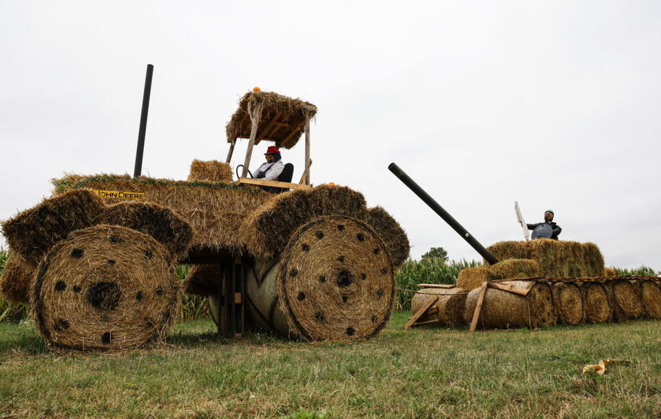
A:
[[[518,200],[607,265],[658,270],[660,21],[660,2],[631,0],[0,0],[0,219],[65,172],[132,173],[152,63],[145,174],[222,160],[260,86],[319,107],[313,182],[384,206],[414,257],[479,255],[390,162],[485,246],[522,238]],[[300,176],[302,147],[284,158]]]

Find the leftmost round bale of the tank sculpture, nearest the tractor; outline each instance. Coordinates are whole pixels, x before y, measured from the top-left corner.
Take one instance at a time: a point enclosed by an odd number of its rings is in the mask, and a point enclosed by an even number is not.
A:
[[[418,321],[438,320],[438,323],[430,323],[434,326],[459,327],[465,325],[463,310],[468,292],[463,288],[422,288],[413,295],[411,301],[411,312],[415,313],[427,303],[429,299],[438,296],[439,299],[431,306],[434,311],[429,316],[424,316]]]

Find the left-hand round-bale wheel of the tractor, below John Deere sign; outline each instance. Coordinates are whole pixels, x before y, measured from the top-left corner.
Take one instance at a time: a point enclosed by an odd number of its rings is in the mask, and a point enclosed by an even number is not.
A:
[[[161,339],[178,313],[180,283],[170,253],[120,226],[78,230],[39,264],[34,320],[61,349],[128,350]]]

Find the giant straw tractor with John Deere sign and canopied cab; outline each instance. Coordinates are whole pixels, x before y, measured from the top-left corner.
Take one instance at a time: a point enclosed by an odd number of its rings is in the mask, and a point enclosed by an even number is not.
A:
[[[219,332],[266,329],[303,340],[366,339],[388,322],[409,244],[383,208],[345,186],[311,185],[317,108],[250,92],[227,125],[226,162],[193,161],[187,181],[67,175],[54,195],[3,223],[0,290],[29,301],[54,347],[127,350],[162,339],[180,293],[209,297]],[[304,135],[300,183],[246,178],[253,146]],[[249,138],[233,182],[238,138]],[[184,284],[178,264],[190,264]]]

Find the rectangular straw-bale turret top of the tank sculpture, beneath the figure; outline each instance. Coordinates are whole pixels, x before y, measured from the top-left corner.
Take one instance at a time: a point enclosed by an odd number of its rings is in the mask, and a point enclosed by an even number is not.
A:
[[[604,258],[599,248],[593,243],[551,239],[501,241],[487,247],[487,250],[499,260],[533,259],[538,262],[540,275],[544,277],[602,277],[604,275]]]

